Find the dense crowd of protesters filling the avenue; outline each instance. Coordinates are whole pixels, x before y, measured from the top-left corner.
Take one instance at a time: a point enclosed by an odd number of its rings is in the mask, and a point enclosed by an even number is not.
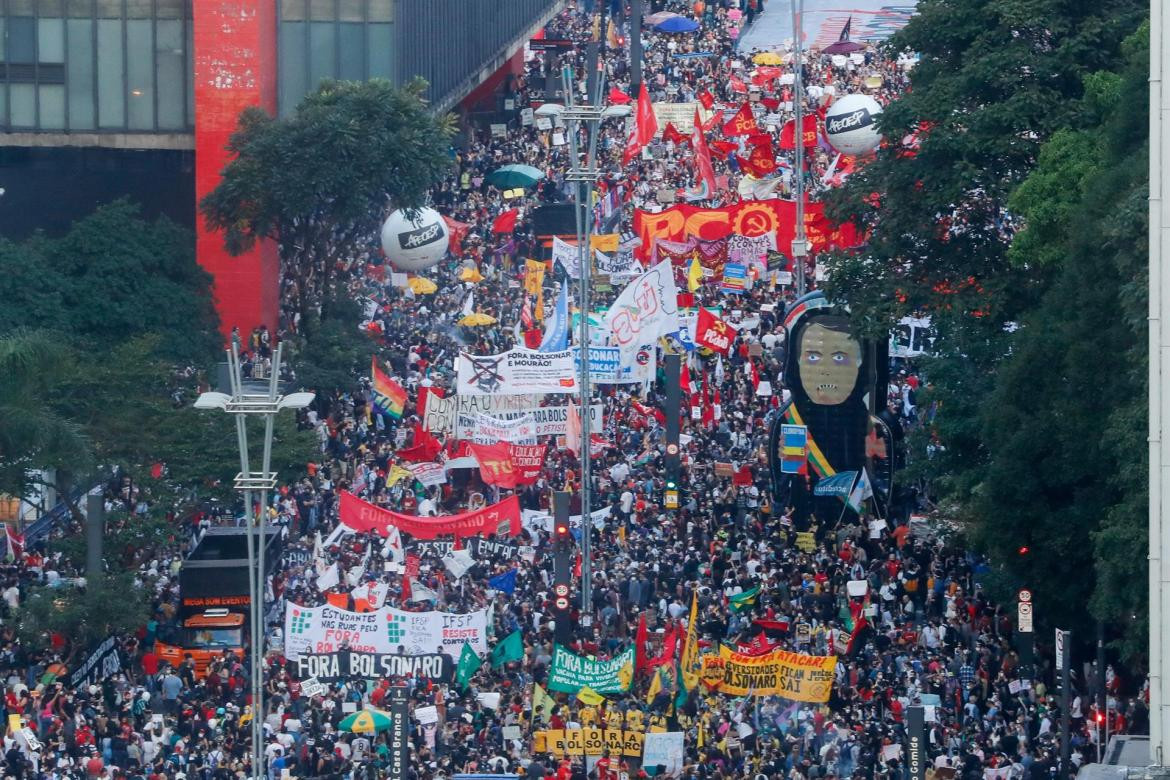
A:
[[[644,74],[653,99],[690,103],[706,92],[729,112],[748,102],[768,132],[778,136],[792,116],[791,82],[753,83],[755,53],[736,46],[742,26],[763,11],[763,4],[666,5],[701,26],[686,35],[647,33]],[[551,39],[583,43],[598,27],[596,16],[571,9],[553,19],[546,33]],[[632,92],[628,53],[605,48],[603,57],[608,85]],[[911,62],[907,57],[888,61],[872,46],[844,58],[813,50],[804,68],[806,108],[815,112],[834,95],[858,91],[889,99],[904,89]],[[526,73],[509,83],[504,97],[515,102],[517,111],[532,106],[545,98],[546,74],[563,65],[573,69],[574,83],[584,83],[585,47],[537,53]],[[765,116],[778,118],[764,122]],[[655,139],[624,168],[627,129],[607,123],[601,133],[598,149],[605,177],[599,192],[608,206],[598,207],[599,226],[607,223],[628,236],[632,208],[661,208],[661,191],[675,191],[680,199],[696,198],[688,195],[695,175],[694,154],[687,145]],[[700,294],[704,306],[739,312],[736,319],[742,327],[725,359],[687,360],[689,377],[696,385],[700,379],[710,384],[708,398],[718,398],[720,409],[709,419],[683,423],[686,468],[677,511],[662,506],[666,441],[661,409],[673,378],[663,377],[660,368],[645,392],[639,386],[599,388],[605,422],[597,433],[604,449],[593,461],[587,488],[592,508],[610,512],[592,531],[594,612],[591,621],[583,620],[586,615],[574,602],[571,648],[581,655],[613,657],[634,641],[645,622],[649,653],[660,653],[682,635],[691,594],[697,594],[695,630],[704,649],[715,650],[722,642],[734,648],[764,646],[838,655],[826,704],[794,704],[766,696],[732,698],[704,689],[679,697],[670,685],[649,695],[655,672],[639,672],[628,692],[608,696],[601,705],[553,693],[556,709],[544,718],[536,712],[534,693],[535,685],[546,678],[553,649],[545,531],[526,529],[518,540],[524,547],[515,557],[479,560],[459,579],[449,575],[435,554],[424,552],[417,586],[434,596],[410,601],[402,593],[401,567],[387,560],[380,537],[335,533],[342,491],[412,515],[454,513],[502,496],[475,469],[453,470],[447,483],[433,488],[391,478],[401,464],[397,453],[426,436],[419,391],[449,392],[453,360],[460,351],[496,353],[522,340],[514,325],[524,305],[519,294],[524,258],[548,256],[530,215],[537,205],[571,199],[565,182],[569,144],[556,130],[523,124],[517,115],[503,137],[475,126],[464,127],[464,136],[452,177],[433,198],[443,214],[467,226],[452,256],[428,272],[438,291],[418,295],[395,284],[393,269],[373,242],[369,253],[340,269],[345,294],[365,306],[360,326],[378,344],[387,372],[407,387],[410,400],[401,420],[377,414],[369,380],[356,380],[347,392],[318,393],[301,417],[302,426],[316,432],[319,451],[307,474],[282,484],[270,502],[270,520],[283,529],[285,547],[305,554],[295,558],[301,562],[282,566],[269,584],[275,605],[267,621],[273,650],[264,664],[263,711],[256,715],[264,723],[268,778],[276,780],[285,772],[294,776],[385,776],[391,758],[385,733],[355,734],[339,723],[355,709],[383,706],[390,681],[349,679],[310,699],[280,650],[285,639],[282,603],[312,606],[338,599],[349,603],[352,591],[371,584],[384,588],[386,605],[405,609],[429,608],[433,602],[445,612],[466,613],[490,606],[496,640],[517,629],[523,637],[521,660],[498,668],[486,663],[466,688],[402,681],[411,689],[412,710],[436,705],[440,716],[429,727],[412,720],[410,780],[456,773],[556,780],[584,780],[590,774],[598,780],[626,780],[628,774],[655,773],[656,767],[640,767],[635,757],[606,753],[587,766],[579,758],[562,760],[532,750],[532,733],[538,729],[576,724],[683,731],[686,760],[680,774],[688,780],[894,778],[904,773],[901,745],[907,707],[914,704],[928,705],[934,776],[961,774],[975,780],[1055,773],[1059,718],[1049,692],[1051,664],[1038,664],[1038,674],[1024,676],[1010,616],[980,587],[985,564],[929,522],[910,523],[911,513],[927,513],[922,497],[909,492],[883,517],[867,511],[851,516],[848,523],[823,522],[811,527],[794,525],[787,508],[773,504],[764,453],[769,427],[787,393],[783,313],[794,298],[789,285],[777,284],[777,277],[760,278],[742,295],[710,287]],[[771,192],[785,196],[793,185],[792,153],[778,150],[777,158],[780,170]],[[505,199],[487,178],[511,163],[532,165],[546,178],[523,196]],[[731,202],[743,192],[743,172],[735,156],[723,156],[715,164],[718,192],[704,193],[697,202]],[[823,144],[803,173],[808,191],[815,196],[834,186],[848,165]],[[494,220],[516,207],[522,208],[522,216],[515,230],[493,234]],[[479,270],[483,281],[461,283],[459,276],[466,268]],[[560,274],[563,269],[557,269],[556,275]],[[550,274],[548,302],[556,295],[552,279]],[[298,281],[285,277],[283,284],[288,296]],[[612,295],[601,292],[596,303],[606,305]],[[495,325],[469,329],[457,324],[468,296],[475,310],[497,320]],[[296,318],[287,313],[282,326],[282,334],[295,331]],[[271,347],[267,331],[240,339],[240,347],[248,356],[249,370],[264,375]],[[895,368],[889,408],[913,427],[921,414],[920,379],[913,365]],[[772,395],[758,393],[762,381],[775,388]],[[450,444],[452,436],[441,439]],[[724,463],[730,464],[730,474],[716,468]],[[525,509],[550,511],[551,492],[567,490],[571,512],[578,513],[581,489],[578,457],[553,443],[536,484],[518,493]],[[140,490],[121,479],[111,482],[106,486],[111,512],[124,509],[128,517],[142,515],[149,503],[168,501]],[[48,553],[43,546],[18,551],[15,562],[5,570],[0,670],[7,678],[7,713],[23,718],[35,743],[9,730],[6,775],[18,780],[248,775],[247,724],[254,713],[247,658],[225,651],[204,672],[190,661],[177,668],[163,663],[154,650],[158,633],[174,616],[181,555],[204,527],[234,523],[235,515],[229,508],[204,508],[185,520],[186,527],[174,534],[170,547],[128,552],[121,562],[137,570],[139,585],[153,593],[153,617],[137,635],[119,639],[121,672],[78,689],[68,684],[66,662],[76,664],[84,654],[62,658],[63,637],[51,637],[48,649],[29,653],[18,633],[22,594],[29,585],[64,582],[78,573],[51,552],[51,541]],[[813,532],[814,544],[801,548],[797,534],[807,531]],[[66,523],[56,538],[77,532],[76,525]],[[531,555],[519,552],[525,547],[532,548]],[[335,562],[351,578],[322,591],[319,574]],[[489,578],[511,568],[517,570],[512,593],[488,586]],[[869,594],[861,612],[847,592],[848,584],[858,581],[867,584]],[[759,595],[749,608],[729,607],[734,596],[755,588]],[[859,630],[859,623],[867,628]],[[1083,699],[1078,696],[1073,704],[1078,762],[1095,758],[1097,739],[1088,700],[1095,674],[1079,677]],[[1145,729],[1143,698],[1122,698],[1115,676],[1107,684],[1110,732]],[[500,693],[498,703],[480,696],[484,692]],[[505,738],[509,726],[519,726],[521,737]]]

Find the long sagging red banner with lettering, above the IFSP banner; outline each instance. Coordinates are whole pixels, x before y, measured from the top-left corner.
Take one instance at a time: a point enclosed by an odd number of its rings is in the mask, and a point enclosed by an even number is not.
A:
[[[386,536],[386,529],[394,526],[415,539],[438,539],[441,536],[450,534],[480,537],[491,533],[514,537],[521,531],[519,499],[516,496],[509,496],[498,504],[472,512],[440,517],[415,517],[374,506],[343,490],[338,513],[342,523],[355,531],[377,531],[381,536]]]

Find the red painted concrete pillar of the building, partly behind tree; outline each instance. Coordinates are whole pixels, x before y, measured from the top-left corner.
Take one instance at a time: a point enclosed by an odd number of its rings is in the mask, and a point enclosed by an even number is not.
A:
[[[259,105],[276,113],[275,0],[198,0],[195,39],[195,200],[215,188],[229,161],[228,138],[240,111]],[[280,305],[276,246],[264,241],[233,257],[223,236],[197,218],[195,255],[215,279],[223,336],[240,329],[243,344],[256,325],[274,334]]]

